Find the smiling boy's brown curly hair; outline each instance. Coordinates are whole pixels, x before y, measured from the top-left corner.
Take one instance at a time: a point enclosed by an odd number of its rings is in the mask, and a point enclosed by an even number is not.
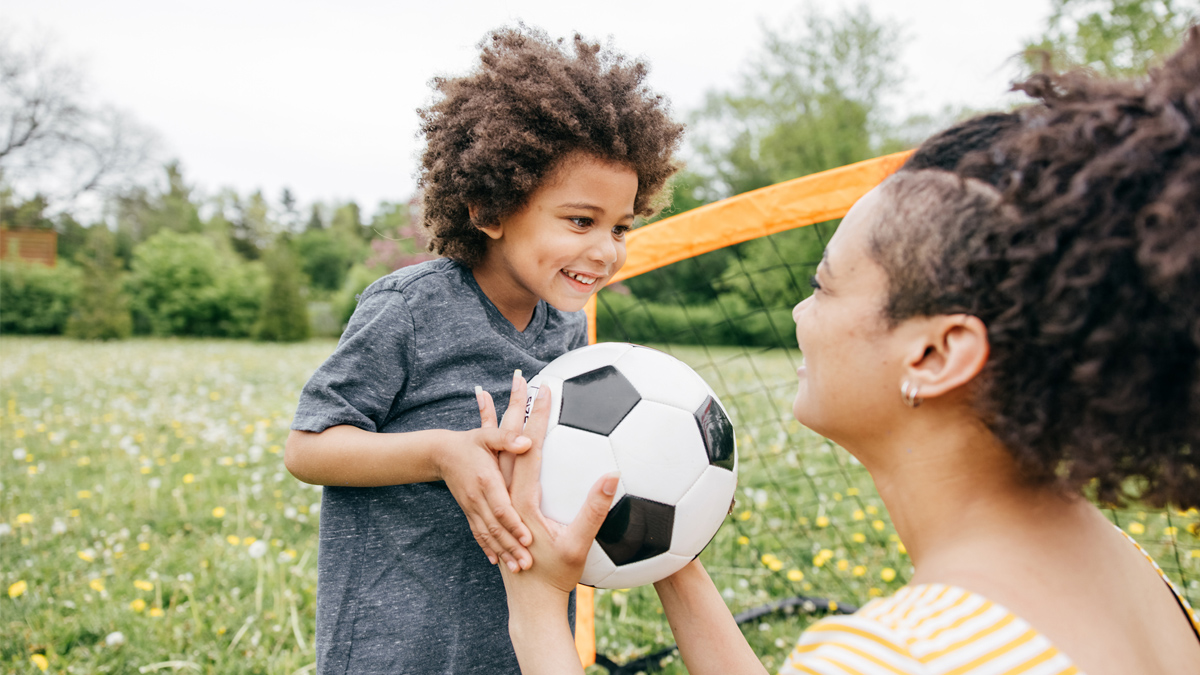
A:
[[[661,207],[683,125],[646,85],[644,62],[580,35],[571,50],[563,42],[524,25],[499,29],[480,43],[473,72],[433,79],[440,97],[419,110],[431,251],[476,264],[487,251],[479,228],[520,210],[575,153],[637,173],[635,214],[652,216]]]

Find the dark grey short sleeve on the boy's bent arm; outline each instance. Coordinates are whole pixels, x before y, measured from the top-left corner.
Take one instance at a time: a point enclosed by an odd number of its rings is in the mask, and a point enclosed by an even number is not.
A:
[[[365,295],[337,350],[301,390],[292,429],[320,432],[349,424],[379,431],[408,383],[414,339],[413,313],[401,292]]]

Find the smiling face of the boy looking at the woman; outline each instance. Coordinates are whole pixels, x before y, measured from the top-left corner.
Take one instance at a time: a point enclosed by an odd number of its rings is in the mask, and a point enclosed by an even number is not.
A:
[[[520,211],[481,228],[492,240],[476,279],[510,321],[539,299],[562,311],[583,309],[625,264],[636,196],[629,167],[586,154],[564,159]]]

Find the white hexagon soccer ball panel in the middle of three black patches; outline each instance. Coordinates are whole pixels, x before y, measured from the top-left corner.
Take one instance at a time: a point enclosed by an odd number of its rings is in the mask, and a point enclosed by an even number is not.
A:
[[[676,503],[708,466],[695,417],[677,407],[642,401],[608,438],[625,490],[655,502]]]

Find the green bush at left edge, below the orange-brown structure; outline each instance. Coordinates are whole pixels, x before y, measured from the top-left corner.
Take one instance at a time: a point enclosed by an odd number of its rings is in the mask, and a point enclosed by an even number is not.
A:
[[[59,335],[78,294],[79,269],[65,261],[0,262],[0,333]]]

